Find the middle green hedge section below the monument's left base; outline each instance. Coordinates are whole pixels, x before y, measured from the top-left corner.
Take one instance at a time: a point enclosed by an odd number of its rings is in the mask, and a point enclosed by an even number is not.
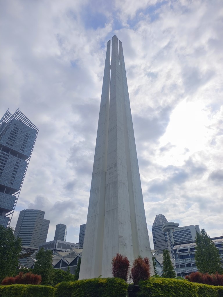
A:
[[[83,279],[56,285],[55,297],[126,297],[127,289],[119,278]]]

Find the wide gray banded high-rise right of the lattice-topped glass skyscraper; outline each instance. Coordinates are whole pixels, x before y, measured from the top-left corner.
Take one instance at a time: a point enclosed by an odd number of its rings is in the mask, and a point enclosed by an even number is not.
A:
[[[22,238],[23,245],[37,247],[46,242],[50,221],[44,219],[45,211],[24,209],[20,211],[14,235]]]

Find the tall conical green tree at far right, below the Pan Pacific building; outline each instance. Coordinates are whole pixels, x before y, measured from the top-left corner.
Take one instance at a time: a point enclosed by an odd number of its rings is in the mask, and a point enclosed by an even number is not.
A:
[[[223,273],[219,251],[204,229],[196,234],[195,261],[201,273]]]

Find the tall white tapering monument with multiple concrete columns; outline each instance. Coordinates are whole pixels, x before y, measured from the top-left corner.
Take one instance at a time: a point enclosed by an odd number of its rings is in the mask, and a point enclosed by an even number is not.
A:
[[[150,258],[122,42],[107,45],[95,158],[79,279],[112,276],[117,252]],[[111,75],[110,75],[111,70]]]

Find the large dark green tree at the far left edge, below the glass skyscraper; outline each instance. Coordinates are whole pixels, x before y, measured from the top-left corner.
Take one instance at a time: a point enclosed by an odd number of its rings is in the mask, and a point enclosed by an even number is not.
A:
[[[13,231],[12,227],[0,225],[0,283],[5,277],[16,274],[22,239],[15,237]]]

